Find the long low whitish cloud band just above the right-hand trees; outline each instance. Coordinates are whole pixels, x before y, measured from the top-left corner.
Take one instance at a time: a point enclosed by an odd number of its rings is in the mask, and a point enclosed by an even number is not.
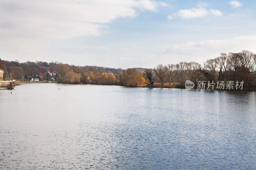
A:
[[[85,49],[85,53],[92,51],[90,55],[98,58],[98,61],[101,62],[100,65],[120,66],[122,68],[153,68],[156,64],[179,63],[180,61],[204,63],[207,59],[218,57],[222,52],[239,52],[243,49],[256,52],[256,36],[239,36],[232,39],[195,41],[174,45],[159,43],[158,45],[144,46],[136,43],[132,46],[118,45],[115,48],[96,47],[96,49],[97,53],[99,52],[96,56],[94,47]],[[115,58],[113,53],[116,54]],[[102,60],[101,56],[103,54],[107,56],[107,60]],[[118,63],[123,65],[115,65],[116,62],[111,60],[118,60]],[[98,61],[96,64],[98,64]],[[95,63],[90,64],[93,65]]]

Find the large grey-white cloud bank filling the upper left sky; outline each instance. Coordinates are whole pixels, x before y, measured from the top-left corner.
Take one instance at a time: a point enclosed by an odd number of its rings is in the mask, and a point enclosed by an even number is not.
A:
[[[154,0],[1,0],[0,36],[66,39],[104,33],[117,18],[166,5]],[[4,41],[3,39],[0,41]]]

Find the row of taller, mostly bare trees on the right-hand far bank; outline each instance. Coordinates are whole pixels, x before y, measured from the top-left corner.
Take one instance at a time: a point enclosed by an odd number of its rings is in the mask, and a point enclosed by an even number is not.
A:
[[[221,53],[214,59],[206,60],[203,65],[197,62],[180,62],[165,66],[158,64],[153,72],[161,86],[168,83],[168,86],[184,87],[186,80],[195,84],[198,81],[244,81],[245,87],[255,88],[256,54],[248,50]]]

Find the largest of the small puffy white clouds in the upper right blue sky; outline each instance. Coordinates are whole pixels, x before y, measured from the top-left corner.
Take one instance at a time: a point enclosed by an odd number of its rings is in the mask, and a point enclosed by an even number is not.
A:
[[[180,10],[178,15],[182,18],[200,18],[208,15],[209,12],[204,8],[191,8]]]

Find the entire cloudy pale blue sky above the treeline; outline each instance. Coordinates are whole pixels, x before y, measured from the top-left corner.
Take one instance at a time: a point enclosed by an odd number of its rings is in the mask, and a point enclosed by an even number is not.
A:
[[[1,0],[0,58],[111,68],[256,52],[255,0]]]

